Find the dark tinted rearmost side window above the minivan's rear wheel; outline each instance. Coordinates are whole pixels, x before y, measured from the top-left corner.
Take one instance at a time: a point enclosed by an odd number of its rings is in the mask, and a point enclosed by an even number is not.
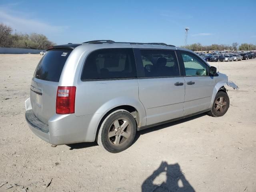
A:
[[[82,71],[82,80],[136,78],[136,64],[131,48],[102,49],[92,52]]]

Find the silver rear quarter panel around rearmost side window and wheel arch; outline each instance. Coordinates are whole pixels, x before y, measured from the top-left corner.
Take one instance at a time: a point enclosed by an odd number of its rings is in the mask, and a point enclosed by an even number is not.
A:
[[[66,61],[59,86],[76,86],[75,116],[92,115],[88,121],[91,121],[94,128],[98,127],[98,118],[102,118],[108,111],[121,105],[136,108],[140,115],[140,125],[146,125],[146,112],[138,99],[137,79],[81,80],[87,56],[95,50],[105,48],[132,48],[132,46],[130,44],[84,44],[76,47]]]

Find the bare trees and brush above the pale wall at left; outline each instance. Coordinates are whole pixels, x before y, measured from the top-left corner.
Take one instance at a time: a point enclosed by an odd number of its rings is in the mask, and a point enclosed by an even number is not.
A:
[[[54,43],[43,34],[12,34],[13,29],[0,23],[0,47],[45,50]]]

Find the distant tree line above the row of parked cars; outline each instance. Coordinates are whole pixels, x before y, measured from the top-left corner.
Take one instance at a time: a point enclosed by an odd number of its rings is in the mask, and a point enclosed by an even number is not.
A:
[[[204,46],[200,43],[194,43],[191,45],[185,46],[185,48],[190,49],[192,51],[210,51],[210,50],[218,50],[218,51],[252,51],[255,50],[256,45],[242,43],[238,46],[237,42],[232,43],[232,45],[224,45],[224,44],[212,44],[210,46]]]

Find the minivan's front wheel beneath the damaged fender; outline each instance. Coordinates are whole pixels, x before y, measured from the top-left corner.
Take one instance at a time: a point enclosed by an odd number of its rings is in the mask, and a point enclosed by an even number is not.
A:
[[[229,97],[226,92],[219,91],[214,99],[212,109],[207,113],[213,117],[223,116],[229,108]]]

